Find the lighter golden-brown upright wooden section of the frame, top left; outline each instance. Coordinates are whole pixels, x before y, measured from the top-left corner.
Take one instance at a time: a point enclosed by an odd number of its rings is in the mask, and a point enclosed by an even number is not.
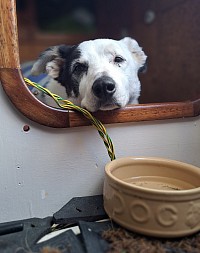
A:
[[[0,0],[0,68],[19,68],[15,0]]]

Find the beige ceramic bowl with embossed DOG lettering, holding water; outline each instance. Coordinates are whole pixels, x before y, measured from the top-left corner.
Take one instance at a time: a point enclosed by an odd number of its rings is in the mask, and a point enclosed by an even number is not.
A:
[[[200,230],[200,168],[153,157],[106,165],[104,208],[132,231],[180,237]]]

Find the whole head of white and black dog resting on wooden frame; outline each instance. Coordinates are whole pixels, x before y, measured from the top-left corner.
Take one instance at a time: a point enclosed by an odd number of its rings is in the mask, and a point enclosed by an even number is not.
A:
[[[96,39],[47,49],[32,74],[48,73],[66,88],[69,99],[77,98],[89,111],[111,110],[137,103],[138,72],[145,62],[145,53],[131,38]]]

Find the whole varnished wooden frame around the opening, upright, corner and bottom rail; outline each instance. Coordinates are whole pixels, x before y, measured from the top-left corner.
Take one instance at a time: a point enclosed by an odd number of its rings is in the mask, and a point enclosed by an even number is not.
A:
[[[15,107],[29,119],[49,127],[89,125],[80,113],[49,107],[27,88],[20,69],[15,0],[0,0],[0,80]],[[200,98],[183,102],[129,105],[94,113],[104,124],[175,119],[200,115]]]

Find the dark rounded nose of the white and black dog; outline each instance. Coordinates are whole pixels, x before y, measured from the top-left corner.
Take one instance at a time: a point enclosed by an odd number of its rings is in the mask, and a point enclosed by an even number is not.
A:
[[[98,98],[110,98],[115,93],[115,81],[109,76],[103,76],[95,80],[92,86],[94,95]]]

